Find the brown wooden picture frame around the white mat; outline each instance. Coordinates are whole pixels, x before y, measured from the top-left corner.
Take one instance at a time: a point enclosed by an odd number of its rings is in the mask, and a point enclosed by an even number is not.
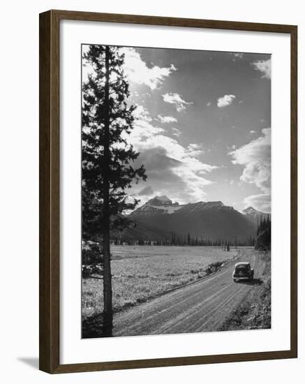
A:
[[[290,35],[291,253],[290,349],[258,353],[60,364],[59,330],[59,22],[82,20]],[[40,14],[40,370],[50,374],[244,362],[297,357],[297,27],[216,20],[49,10]]]

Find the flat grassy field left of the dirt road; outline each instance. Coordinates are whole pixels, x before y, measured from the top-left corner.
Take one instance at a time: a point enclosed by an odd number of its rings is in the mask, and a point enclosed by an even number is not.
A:
[[[211,263],[235,258],[208,246],[112,246],[114,311],[131,307],[172,288],[200,279]],[[103,311],[103,279],[82,279],[82,316]]]

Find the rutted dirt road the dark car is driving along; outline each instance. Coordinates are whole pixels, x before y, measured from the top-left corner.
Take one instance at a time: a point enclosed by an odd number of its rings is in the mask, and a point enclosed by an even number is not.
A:
[[[261,283],[265,261],[252,250],[240,253],[255,269],[251,282],[232,281],[229,264],[220,272],[114,316],[114,336],[215,331],[250,290]]]

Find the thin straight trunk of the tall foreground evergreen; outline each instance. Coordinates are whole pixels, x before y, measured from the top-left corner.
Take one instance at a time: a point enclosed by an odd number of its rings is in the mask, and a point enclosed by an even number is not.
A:
[[[103,311],[103,336],[112,336],[112,281],[110,265],[110,107],[109,107],[109,46],[105,50],[105,137],[104,137],[104,159],[103,164],[103,288],[104,288],[104,311]]]

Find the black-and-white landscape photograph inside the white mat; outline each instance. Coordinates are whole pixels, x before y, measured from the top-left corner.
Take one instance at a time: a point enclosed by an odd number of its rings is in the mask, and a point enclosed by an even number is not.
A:
[[[271,328],[271,54],[82,45],[82,339]]]

